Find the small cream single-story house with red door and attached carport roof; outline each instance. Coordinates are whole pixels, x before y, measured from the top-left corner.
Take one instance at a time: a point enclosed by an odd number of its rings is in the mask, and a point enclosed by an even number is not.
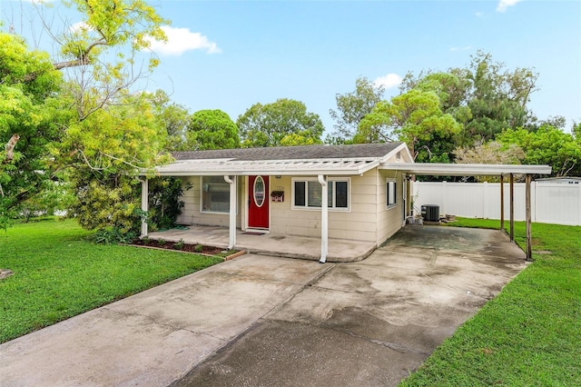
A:
[[[408,146],[303,145],[177,152],[156,174],[179,176],[185,191],[179,223],[256,233],[320,235],[320,262],[329,238],[376,247],[397,233],[411,214],[412,174],[547,174],[544,165],[414,163]],[[548,172],[547,172],[548,168]],[[147,180],[142,209],[147,211]],[[142,235],[147,235],[147,223]]]

